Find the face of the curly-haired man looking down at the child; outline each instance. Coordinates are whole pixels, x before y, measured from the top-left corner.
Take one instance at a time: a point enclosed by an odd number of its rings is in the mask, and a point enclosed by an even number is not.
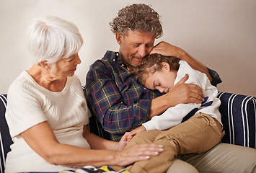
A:
[[[120,55],[124,63],[131,66],[141,65],[145,56],[154,48],[154,35],[149,32],[126,31],[125,35],[117,34]]]

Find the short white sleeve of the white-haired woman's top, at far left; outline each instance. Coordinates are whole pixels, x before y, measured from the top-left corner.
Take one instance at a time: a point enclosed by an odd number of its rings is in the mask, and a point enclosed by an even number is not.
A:
[[[24,90],[24,84],[14,83],[9,87],[6,120],[12,137],[19,135],[33,125],[47,120],[40,103]],[[27,87],[27,86],[25,86]]]

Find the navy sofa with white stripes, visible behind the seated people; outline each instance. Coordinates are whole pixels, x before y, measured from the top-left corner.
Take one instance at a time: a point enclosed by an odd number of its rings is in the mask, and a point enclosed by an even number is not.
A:
[[[222,143],[255,148],[256,145],[256,98],[242,94],[219,92],[221,120],[226,134]],[[0,172],[4,172],[6,154],[10,151],[12,138],[5,119],[7,94],[0,95]],[[93,117],[92,117],[93,118]],[[102,127],[96,119],[90,120],[90,130],[101,136]]]

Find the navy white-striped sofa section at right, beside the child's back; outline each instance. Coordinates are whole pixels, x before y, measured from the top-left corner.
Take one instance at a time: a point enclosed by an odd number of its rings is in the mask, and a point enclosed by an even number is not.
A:
[[[221,121],[226,134],[223,143],[255,148],[256,98],[219,92]]]

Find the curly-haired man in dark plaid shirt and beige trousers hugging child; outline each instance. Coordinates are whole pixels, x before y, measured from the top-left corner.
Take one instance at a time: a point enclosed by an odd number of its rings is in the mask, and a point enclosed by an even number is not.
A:
[[[97,123],[102,125],[104,138],[119,141],[125,132],[137,128],[151,117],[161,115],[169,107],[204,100],[199,86],[185,84],[188,76],[183,77],[167,94],[140,84],[130,69],[139,66],[150,53],[180,58],[206,74],[211,84],[216,86],[221,82],[215,71],[206,68],[181,48],[166,42],[154,45],[163,31],[159,14],[149,5],[125,6],[110,22],[110,27],[120,49],[118,52],[107,51],[102,59],[92,64],[85,86],[87,104],[92,117],[96,117]],[[167,172],[254,172],[255,152],[251,150],[220,143],[203,154],[177,156]]]

